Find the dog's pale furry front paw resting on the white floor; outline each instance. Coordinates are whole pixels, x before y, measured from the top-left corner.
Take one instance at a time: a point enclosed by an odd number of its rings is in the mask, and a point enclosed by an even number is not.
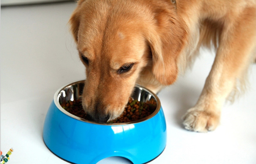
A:
[[[190,109],[183,116],[184,128],[196,132],[213,131],[219,125],[220,115],[211,111],[200,111],[195,108]]]

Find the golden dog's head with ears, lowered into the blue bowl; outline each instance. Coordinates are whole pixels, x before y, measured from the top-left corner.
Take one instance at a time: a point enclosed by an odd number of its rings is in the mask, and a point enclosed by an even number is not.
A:
[[[86,67],[82,105],[97,122],[117,118],[140,72],[163,85],[177,77],[185,30],[172,4],[149,0],[80,0],[70,19]]]

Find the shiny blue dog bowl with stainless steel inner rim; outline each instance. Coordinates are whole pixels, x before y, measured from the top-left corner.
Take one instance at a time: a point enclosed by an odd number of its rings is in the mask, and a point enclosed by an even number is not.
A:
[[[63,101],[82,96],[85,81],[61,87],[46,115],[43,140],[56,156],[73,164],[96,164],[102,159],[120,156],[133,164],[144,164],[158,157],[166,146],[166,123],[159,98],[136,85],[133,99],[157,101],[148,117],[127,123],[96,123],[74,116],[61,107]]]

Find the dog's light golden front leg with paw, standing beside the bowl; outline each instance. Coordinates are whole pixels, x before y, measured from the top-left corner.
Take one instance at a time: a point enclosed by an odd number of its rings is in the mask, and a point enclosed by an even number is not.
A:
[[[183,117],[185,129],[207,132],[220,122],[221,107],[242,77],[255,49],[255,9],[224,24],[215,61],[196,105]]]

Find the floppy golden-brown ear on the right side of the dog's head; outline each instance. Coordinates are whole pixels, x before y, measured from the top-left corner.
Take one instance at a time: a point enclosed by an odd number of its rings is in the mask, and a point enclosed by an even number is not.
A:
[[[163,85],[175,82],[178,76],[178,57],[186,43],[187,32],[176,12],[159,12],[157,24],[148,33],[153,58],[152,72]]]

